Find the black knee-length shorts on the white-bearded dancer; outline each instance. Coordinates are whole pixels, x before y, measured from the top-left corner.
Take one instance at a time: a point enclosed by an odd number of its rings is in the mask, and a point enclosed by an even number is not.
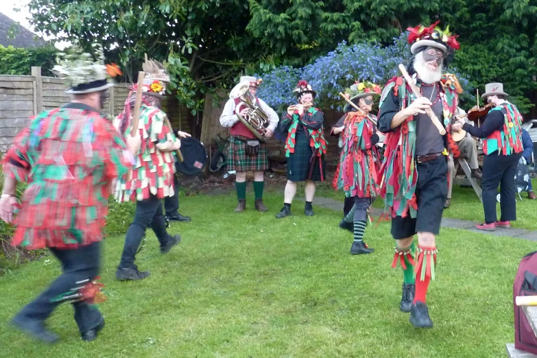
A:
[[[396,240],[406,239],[420,232],[432,232],[438,235],[442,213],[447,198],[447,160],[445,156],[418,163],[418,182],[416,183],[416,200],[418,215],[412,219],[392,217],[392,237]]]

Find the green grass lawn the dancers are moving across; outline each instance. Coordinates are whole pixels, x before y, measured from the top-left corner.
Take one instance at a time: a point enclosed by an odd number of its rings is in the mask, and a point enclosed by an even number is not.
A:
[[[233,195],[182,198],[193,222],[173,224],[183,240],[165,256],[150,233],[136,261],[152,272],[144,281],[115,281],[124,237],[106,239],[106,327],[93,343],[80,340],[69,305],[49,319],[62,339],[53,346],[8,325],[58,274],[54,259],[6,274],[1,357],[505,356],[514,341],[514,274],[536,243],[442,230],[427,296],[435,326],[416,330],[398,310],[403,277],[390,268],[388,223],[366,231],[374,254],[351,256],[351,234],[337,227],[341,213],[315,208],[305,217],[297,203],[295,216],[276,220],[282,199],[267,195],[270,211],[261,214],[249,195],[248,211],[235,214]]]

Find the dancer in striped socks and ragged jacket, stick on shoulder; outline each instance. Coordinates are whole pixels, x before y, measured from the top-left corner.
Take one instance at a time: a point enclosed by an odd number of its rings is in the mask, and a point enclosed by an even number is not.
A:
[[[359,108],[363,110],[360,112],[353,108],[354,111],[348,112],[344,120],[342,137],[339,141],[342,152],[334,177],[334,186],[343,189],[346,198],[353,198],[355,201],[353,209],[347,215],[349,219],[350,216],[353,219],[354,241],[350,248],[351,254],[370,254],[374,251],[363,242],[363,235],[366,232],[368,210],[372,200],[379,193],[377,184],[379,153],[375,147],[379,142],[379,135],[373,123],[377,121],[377,117],[370,114],[370,110],[373,95],[378,95],[380,92],[381,88],[377,84],[367,81],[353,84],[345,91],[350,100],[357,100]],[[342,222],[344,226],[347,225],[345,220],[347,217]]]

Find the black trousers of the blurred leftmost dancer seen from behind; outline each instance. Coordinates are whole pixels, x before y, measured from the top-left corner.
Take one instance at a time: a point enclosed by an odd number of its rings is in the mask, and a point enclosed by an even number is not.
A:
[[[44,321],[60,305],[58,302],[52,302],[54,298],[71,291],[79,281],[88,278],[93,280],[99,274],[100,244],[96,242],[74,250],[50,248],[52,254],[62,263],[62,274],[38,298],[26,305],[18,315],[27,320]],[[102,315],[95,306],[76,302],[73,303],[73,308],[80,333],[95,328],[102,320]]]

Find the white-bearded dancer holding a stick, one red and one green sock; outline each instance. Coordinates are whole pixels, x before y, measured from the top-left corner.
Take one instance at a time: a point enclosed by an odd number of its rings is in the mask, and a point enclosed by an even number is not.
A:
[[[423,97],[416,99],[405,79],[394,77],[387,82],[379,105],[379,130],[387,133],[381,196],[385,211],[392,214],[392,236],[396,239],[392,267],[397,262],[403,267],[401,311],[411,312],[409,320],[416,327],[433,326],[425,296],[435,276],[435,235],[440,232],[448,189],[446,148],[455,145],[449,128],[446,135],[440,135],[425,114],[431,108],[447,126],[457,110],[455,86],[443,87],[440,79],[459,44],[455,36],[437,25],[409,29],[413,58],[408,71]],[[416,233],[418,248],[412,259]]]

